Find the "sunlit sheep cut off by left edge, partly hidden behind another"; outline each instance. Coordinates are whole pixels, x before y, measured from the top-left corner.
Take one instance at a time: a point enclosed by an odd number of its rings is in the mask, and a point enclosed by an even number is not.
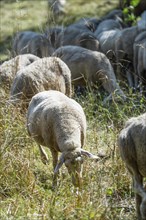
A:
[[[16,73],[34,61],[40,59],[33,54],[18,55],[0,65],[1,86],[10,88]]]

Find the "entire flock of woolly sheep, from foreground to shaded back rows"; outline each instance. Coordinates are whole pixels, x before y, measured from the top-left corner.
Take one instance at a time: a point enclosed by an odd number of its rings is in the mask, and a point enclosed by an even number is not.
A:
[[[118,80],[127,77],[132,88],[143,91],[146,72],[146,11],[135,26],[126,27],[122,11],[102,19],[87,18],[67,27],[51,27],[42,33],[16,34],[11,60],[0,66],[0,83],[10,91],[15,105],[27,108],[27,129],[38,143],[43,163],[52,154],[57,184],[63,164],[75,186],[81,185],[84,156],[100,155],[83,150],[86,116],[72,97],[73,86],[101,85],[112,99],[126,100]],[[122,68],[121,68],[122,67]],[[118,138],[123,161],[132,175],[137,218],[146,220],[146,114],[130,119]],[[61,156],[58,158],[58,153]]]

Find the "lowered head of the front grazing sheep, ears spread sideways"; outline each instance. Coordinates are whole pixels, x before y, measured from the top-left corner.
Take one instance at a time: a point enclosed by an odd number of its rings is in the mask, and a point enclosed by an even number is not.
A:
[[[80,187],[82,183],[83,155],[88,156],[92,159],[99,159],[97,156],[94,156],[93,154],[83,150],[80,147],[76,147],[74,149],[68,148],[67,151],[62,153],[54,172],[58,172],[59,168],[64,163],[72,178],[73,185],[76,187]]]

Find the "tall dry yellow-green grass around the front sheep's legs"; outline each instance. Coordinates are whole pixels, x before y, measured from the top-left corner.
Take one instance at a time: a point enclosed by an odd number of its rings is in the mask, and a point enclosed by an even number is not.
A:
[[[100,95],[99,95],[100,96]],[[10,105],[0,105],[0,218],[1,219],[129,219],[135,218],[131,179],[116,144],[124,121],[144,111],[146,103],[131,95],[129,102],[102,105],[94,93],[74,97],[87,116],[85,149],[106,157],[84,160],[83,186],[75,189],[65,167],[52,191],[52,158],[43,165],[37,144],[28,136],[26,116]],[[137,105],[137,106],[136,106]]]

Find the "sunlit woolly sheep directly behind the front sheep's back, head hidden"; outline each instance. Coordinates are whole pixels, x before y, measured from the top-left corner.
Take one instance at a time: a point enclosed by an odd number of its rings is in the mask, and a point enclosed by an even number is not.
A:
[[[10,89],[10,100],[14,104],[22,101],[25,109],[33,95],[49,89],[71,96],[70,70],[57,57],[39,59],[18,71]]]

